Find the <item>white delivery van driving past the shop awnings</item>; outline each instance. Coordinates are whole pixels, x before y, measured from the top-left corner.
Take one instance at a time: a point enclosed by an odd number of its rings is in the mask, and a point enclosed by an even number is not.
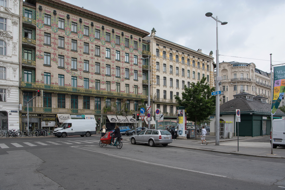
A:
[[[95,119],[68,119],[65,120],[57,130],[54,136],[66,137],[72,135],[91,136],[96,134],[96,120]]]

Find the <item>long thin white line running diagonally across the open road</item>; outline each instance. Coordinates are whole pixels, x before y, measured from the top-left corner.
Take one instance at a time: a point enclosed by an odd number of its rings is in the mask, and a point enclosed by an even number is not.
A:
[[[71,146],[71,147],[79,148],[79,147],[75,147],[75,146]],[[213,173],[205,173],[205,172],[195,171],[195,170],[191,170],[191,169],[185,169],[185,168],[180,168],[180,167],[172,167],[172,166],[166,166],[166,165],[162,165],[162,164],[155,164],[155,163],[151,163],[151,162],[145,162],[143,160],[136,160],[136,159],[132,159],[132,158],[126,158],[126,157],[122,157],[122,156],[107,154],[107,153],[103,153],[103,152],[97,152],[97,151],[94,151],[94,150],[88,150],[88,149],[84,149],[84,148],[79,148],[79,149],[87,150],[87,151],[91,151],[91,152],[96,152],[96,153],[99,153],[99,154],[105,154],[105,155],[108,155],[108,156],[114,156],[114,157],[118,157],[118,158],[123,158],[123,159],[127,159],[127,160],[133,160],[133,161],[140,162],[140,163],[145,163],[145,164],[152,164],[152,165],[156,165],[156,166],[169,167],[169,168],[172,168],[172,169],[180,169],[180,170],[184,170],[184,171],[191,171],[191,172],[195,172],[195,173],[202,173],[202,174],[213,175],[213,176],[218,176],[218,177],[227,177],[227,176],[217,175],[217,174],[213,174]],[[227,177],[227,178],[230,178],[230,177]]]

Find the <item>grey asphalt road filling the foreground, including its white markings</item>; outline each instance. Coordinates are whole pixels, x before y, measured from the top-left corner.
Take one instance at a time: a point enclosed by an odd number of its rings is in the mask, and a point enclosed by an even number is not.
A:
[[[99,136],[1,138],[0,189],[285,187],[285,159],[132,145],[125,140],[119,150],[101,148],[98,142]]]

